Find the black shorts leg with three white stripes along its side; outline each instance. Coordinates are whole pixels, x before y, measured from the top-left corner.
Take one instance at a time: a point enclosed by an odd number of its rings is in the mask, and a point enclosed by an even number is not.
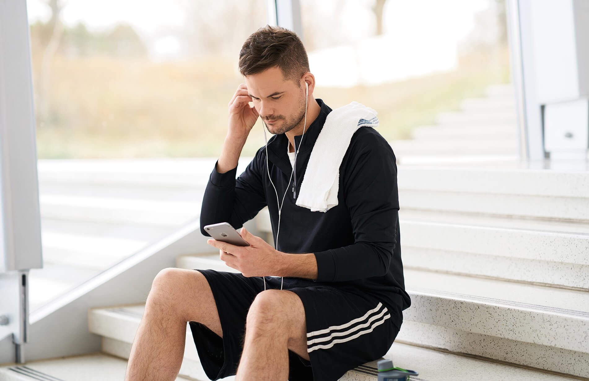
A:
[[[398,333],[388,307],[357,289],[317,284],[290,291],[305,309],[305,351],[315,380],[339,379],[353,367],[379,359]]]

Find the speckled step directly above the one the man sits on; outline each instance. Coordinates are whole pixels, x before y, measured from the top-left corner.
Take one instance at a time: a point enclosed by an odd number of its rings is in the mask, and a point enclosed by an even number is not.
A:
[[[402,207],[399,224],[405,267],[589,290],[587,223]],[[256,225],[272,232],[267,208]]]

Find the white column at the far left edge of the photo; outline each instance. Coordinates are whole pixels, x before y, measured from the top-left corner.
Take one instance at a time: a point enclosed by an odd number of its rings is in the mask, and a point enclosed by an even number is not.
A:
[[[41,221],[27,4],[0,1],[0,339],[24,361],[28,269],[41,268]]]

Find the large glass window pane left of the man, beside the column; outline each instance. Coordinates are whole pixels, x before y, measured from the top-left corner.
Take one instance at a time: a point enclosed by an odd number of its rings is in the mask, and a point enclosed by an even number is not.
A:
[[[35,310],[198,217],[243,82],[239,51],[267,2],[29,0],[28,13],[45,265],[31,271]]]

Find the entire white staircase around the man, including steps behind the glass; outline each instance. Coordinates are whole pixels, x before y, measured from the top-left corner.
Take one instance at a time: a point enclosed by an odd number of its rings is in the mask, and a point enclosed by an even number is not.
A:
[[[521,168],[509,85],[437,123],[391,142],[412,306],[385,358],[415,380],[589,380],[589,172]],[[197,218],[215,160],[39,162],[46,268],[31,271],[32,304]],[[271,241],[267,211],[256,223]],[[176,266],[236,271],[217,253]],[[0,367],[0,381],[121,380],[143,312],[92,308],[100,353]],[[375,366],[341,380],[375,380]],[[181,379],[208,379],[189,327]]]

